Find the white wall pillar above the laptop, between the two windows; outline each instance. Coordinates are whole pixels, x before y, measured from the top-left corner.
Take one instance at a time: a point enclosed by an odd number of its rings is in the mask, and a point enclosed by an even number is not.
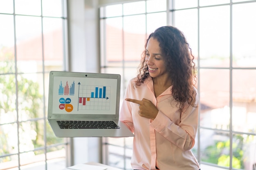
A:
[[[67,9],[69,70],[100,72],[97,0],[67,0]]]

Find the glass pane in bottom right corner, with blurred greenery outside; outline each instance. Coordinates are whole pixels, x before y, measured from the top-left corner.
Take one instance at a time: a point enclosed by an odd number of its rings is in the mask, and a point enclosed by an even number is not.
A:
[[[256,136],[255,135],[233,135],[233,160],[232,167],[243,170],[255,170],[256,162]]]

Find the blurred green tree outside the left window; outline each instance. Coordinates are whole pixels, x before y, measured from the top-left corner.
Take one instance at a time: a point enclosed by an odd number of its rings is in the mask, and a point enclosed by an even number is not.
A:
[[[10,144],[10,140],[17,140],[17,126],[20,152],[34,150],[45,145],[45,117],[40,85],[25,77],[25,74],[15,74],[13,56],[4,48],[0,49],[0,155],[18,153],[18,143],[11,142]],[[17,92],[16,89],[18,89]],[[17,119],[20,121],[19,124],[16,123]],[[49,125],[46,127],[47,144],[63,142],[63,138],[56,137]],[[7,133],[10,129],[13,129],[15,133]],[[57,150],[57,148],[52,150]],[[42,152],[36,151],[35,155]],[[10,159],[10,157],[0,159],[0,162]]]

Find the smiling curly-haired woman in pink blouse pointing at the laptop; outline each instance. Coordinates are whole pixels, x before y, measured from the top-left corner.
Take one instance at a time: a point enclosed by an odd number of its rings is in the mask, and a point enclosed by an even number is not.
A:
[[[198,127],[193,59],[177,28],[163,26],[149,35],[120,111],[121,122],[135,135],[133,169],[200,169],[191,152]]]

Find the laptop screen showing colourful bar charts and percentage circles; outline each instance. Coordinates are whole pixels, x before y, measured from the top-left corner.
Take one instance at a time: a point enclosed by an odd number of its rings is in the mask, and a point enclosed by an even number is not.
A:
[[[54,76],[53,114],[115,115],[117,79]]]

